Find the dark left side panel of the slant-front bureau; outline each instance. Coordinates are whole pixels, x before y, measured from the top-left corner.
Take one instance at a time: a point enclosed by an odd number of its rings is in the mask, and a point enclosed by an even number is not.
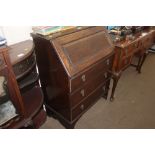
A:
[[[69,79],[50,41],[33,38],[46,106],[70,121]]]

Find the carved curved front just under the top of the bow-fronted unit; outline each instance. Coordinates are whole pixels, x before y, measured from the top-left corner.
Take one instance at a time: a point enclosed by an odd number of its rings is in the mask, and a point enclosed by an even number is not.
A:
[[[35,63],[35,55],[33,54],[27,59],[15,64],[13,66],[13,71],[16,75],[16,79],[19,79],[25,74],[27,74],[27,72],[29,72],[29,70],[31,70],[34,67]]]

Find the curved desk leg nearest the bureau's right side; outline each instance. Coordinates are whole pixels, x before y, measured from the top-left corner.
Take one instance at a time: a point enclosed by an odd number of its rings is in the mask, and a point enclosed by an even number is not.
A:
[[[121,77],[121,73],[113,73],[113,87],[112,87],[112,92],[111,92],[111,97],[110,97],[110,101],[114,100],[114,94],[115,94],[115,89],[118,83],[118,80]]]

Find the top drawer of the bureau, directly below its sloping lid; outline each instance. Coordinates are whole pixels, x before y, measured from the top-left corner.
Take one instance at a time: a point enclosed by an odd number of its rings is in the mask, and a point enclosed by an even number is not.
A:
[[[92,68],[90,68],[83,74],[74,77],[70,81],[70,92],[75,91],[76,89],[79,88],[79,86],[85,84],[86,82],[92,81],[99,73],[111,70],[112,64],[113,64],[113,55],[110,58],[102,60],[101,62],[93,65]]]

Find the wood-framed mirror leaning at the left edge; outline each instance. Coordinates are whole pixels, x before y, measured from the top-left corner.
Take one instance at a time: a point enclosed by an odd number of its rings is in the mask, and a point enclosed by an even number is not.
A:
[[[0,128],[5,128],[23,118],[25,111],[14,73],[11,70],[7,48],[4,46],[0,47],[0,78],[4,79],[0,83],[0,98],[6,98],[0,102]],[[10,105],[10,108],[3,104]]]

